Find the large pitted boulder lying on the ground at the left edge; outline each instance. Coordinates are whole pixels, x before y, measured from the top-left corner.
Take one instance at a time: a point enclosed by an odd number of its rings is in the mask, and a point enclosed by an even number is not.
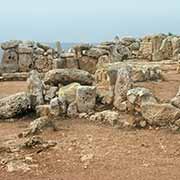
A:
[[[17,93],[0,99],[0,119],[8,119],[27,112],[31,100],[27,93]]]

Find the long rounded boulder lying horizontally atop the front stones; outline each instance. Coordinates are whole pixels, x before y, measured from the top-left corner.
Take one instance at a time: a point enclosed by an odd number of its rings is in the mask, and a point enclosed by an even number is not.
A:
[[[82,85],[91,85],[93,76],[79,69],[54,69],[45,74],[44,82],[46,84],[58,85],[78,82]]]

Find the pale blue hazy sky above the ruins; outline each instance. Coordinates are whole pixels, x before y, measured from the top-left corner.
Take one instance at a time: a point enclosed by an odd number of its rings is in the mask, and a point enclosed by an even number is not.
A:
[[[98,42],[115,35],[138,37],[180,31],[180,0],[0,2],[0,41]]]

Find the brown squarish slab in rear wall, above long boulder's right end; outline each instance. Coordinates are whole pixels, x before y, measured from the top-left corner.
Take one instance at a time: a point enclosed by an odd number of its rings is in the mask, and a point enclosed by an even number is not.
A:
[[[94,74],[96,72],[97,61],[98,60],[96,58],[82,56],[79,58],[79,67],[84,71]]]

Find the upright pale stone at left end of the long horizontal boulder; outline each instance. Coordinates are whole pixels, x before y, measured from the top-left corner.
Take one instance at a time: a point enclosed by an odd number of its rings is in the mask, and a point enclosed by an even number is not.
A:
[[[27,84],[28,93],[31,96],[32,108],[35,108],[37,105],[43,104],[43,83],[40,79],[39,73],[36,70],[32,70],[30,72]]]

